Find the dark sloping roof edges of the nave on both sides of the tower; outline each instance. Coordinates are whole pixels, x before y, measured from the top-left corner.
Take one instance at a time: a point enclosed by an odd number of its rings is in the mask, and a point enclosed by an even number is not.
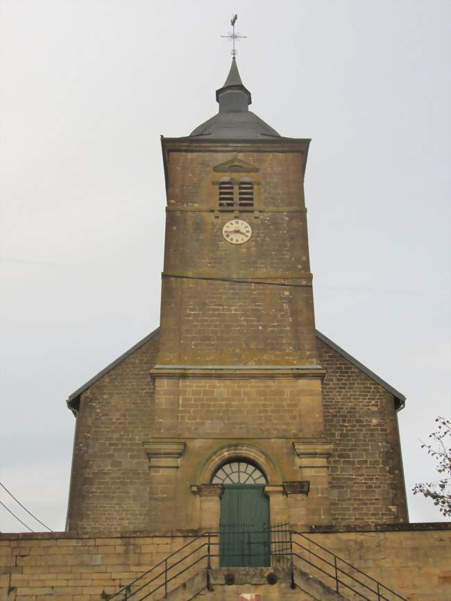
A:
[[[76,415],[76,412],[78,411],[78,406],[80,403],[80,396],[82,395],[83,392],[85,392],[88,388],[90,388],[92,386],[92,384],[95,384],[97,382],[97,380],[100,380],[103,377],[103,375],[105,375],[105,373],[108,373],[114,367],[119,365],[119,363],[123,362],[124,359],[126,359],[127,357],[130,357],[130,355],[132,355],[135,352],[135,350],[138,350],[139,348],[144,346],[144,344],[146,344],[146,342],[153,339],[156,335],[158,335],[158,332],[160,332],[160,328],[153,330],[153,332],[151,332],[146,337],[144,337],[142,340],[140,340],[139,342],[134,344],[131,348],[126,350],[126,352],[123,355],[121,355],[120,357],[117,357],[117,359],[114,359],[114,361],[112,363],[107,365],[104,369],[99,371],[99,373],[94,375],[93,378],[91,378],[90,380],[85,382],[85,384],[80,386],[80,388],[78,388],[75,392],[73,392],[71,395],[69,395],[69,398],[67,399],[66,403],[67,403],[67,407],[69,407],[69,409],[71,409],[71,412],[73,412],[74,415]],[[371,371],[371,369],[368,369],[368,367],[364,366],[363,363],[360,363],[359,361],[357,361],[357,359],[355,359],[355,357],[352,357],[352,355],[350,355],[349,353],[346,353],[346,350],[343,350],[343,348],[338,346],[338,344],[335,344],[334,342],[332,342],[332,340],[330,338],[327,338],[327,336],[325,336],[318,330],[315,330],[315,332],[316,332],[316,336],[318,337],[318,339],[320,339],[325,344],[327,344],[327,346],[330,346],[330,348],[332,348],[337,353],[339,353],[339,355],[341,355],[344,359],[346,359],[352,365],[357,367],[357,369],[359,369],[360,371],[363,371],[363,373],[368,375],[368,378],[371,378],[371,380],[374,380],[375,382],[377,382],[377,384],[380,384],[380,386],[382,386],[382,388],[384,388],[387,392],[392,394],[393,397],[395,398],[395,407],[397,410],[404,408],[406,398],[402,393],[400,393],[400,391],[393,388],[393,386],[391,386],[390,384],[385,382],[385,380],[382,380],[382,378],[380,378],[376,373]]]

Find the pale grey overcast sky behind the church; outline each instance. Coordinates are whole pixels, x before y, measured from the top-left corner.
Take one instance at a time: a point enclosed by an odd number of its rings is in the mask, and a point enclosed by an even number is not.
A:
[[[238,12],[252,110],[312,137],[316,325],[407,396],[407,490],[450,417],[446,0],[0,0],[1,482],[65,527],[65,400],[158,326],[160,134],[217,112]],[[33,530],[39,524],[4,491]],[[409,495],[411,521],[441,520]],[[0,530],[26,530],[0,507]]]

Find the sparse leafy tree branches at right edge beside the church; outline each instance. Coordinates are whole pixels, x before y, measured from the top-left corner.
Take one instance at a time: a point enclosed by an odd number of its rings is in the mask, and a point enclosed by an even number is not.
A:
[[[427,454],[436,459],[441,480],[415,484],[412,491],[414,495],[420,493],[432,499],[444,516],[451,516],[451,421],[438,417],[436,423],[438,425],[435,432],[429,434],[431,443],[423,443],[421,448],[425,448]]]

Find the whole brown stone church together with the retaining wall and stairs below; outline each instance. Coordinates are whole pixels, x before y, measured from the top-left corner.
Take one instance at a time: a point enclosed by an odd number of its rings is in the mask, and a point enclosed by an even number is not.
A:
[[[160,327],[69,396],[67,532],[8,535],[8,586],[24,601],[443,601],[451,530],[408,523],[405,396],[315,328],[310,141],[249,110],[235,56],[216,101],[161,140]],[[20,596],[51,574],[70,584]]]

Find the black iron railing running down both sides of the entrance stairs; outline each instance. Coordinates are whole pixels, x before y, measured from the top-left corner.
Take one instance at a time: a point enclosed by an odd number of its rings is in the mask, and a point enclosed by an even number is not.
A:
[[[230,536],[234,537],[231,545]],[[296,568],[300,568],[337,593],[350,595],[353,601],[407,601],[346,559],[312,541],[306,534],[290,530],[284,523],[265,530],[221,527],[221,532],[194,536],[126,586],[119,585],[119,590],[110,595],[108,601],[154,601],[166,597],[189,577],[204,571],[205,586],[194,594],[195,597],[204,589],[212,590],[213,568],[255,566],[255,561],[249,562],[252,558],[262,560],[260,563],[266,566],[288,569],[293,589],[300,588],[296,583]]]

